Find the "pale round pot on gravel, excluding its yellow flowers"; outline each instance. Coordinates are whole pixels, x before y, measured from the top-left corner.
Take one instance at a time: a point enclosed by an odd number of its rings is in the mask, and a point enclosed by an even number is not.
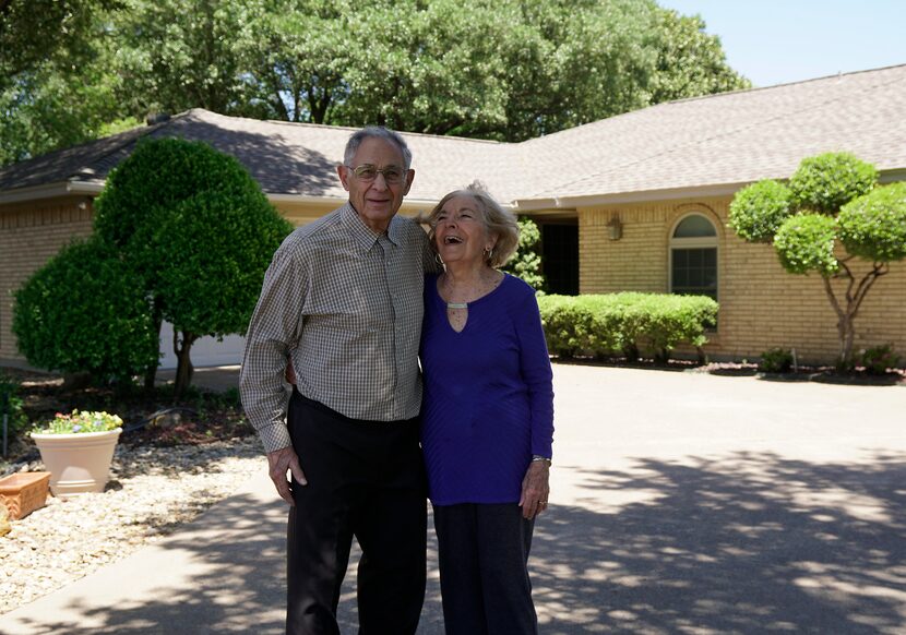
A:
[[[59,499],[103,492],[110,478],[110,463],[121,428],[106,432],[40,434],[32,439],[50,472],[50,491]]]

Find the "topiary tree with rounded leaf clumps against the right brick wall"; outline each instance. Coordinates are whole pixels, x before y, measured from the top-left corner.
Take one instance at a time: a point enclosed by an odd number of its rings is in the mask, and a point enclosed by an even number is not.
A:
[[[818,274],[837,315],[837,367],[854,368],[859,308],[890,263],[906,257],[906,183],[878,187],[873,165],[823,154],[803,159],[786,183],[740,190],[729,220],[743,240],[772,243],[788,273]],[[857,260],[867,263],[861,271]]]

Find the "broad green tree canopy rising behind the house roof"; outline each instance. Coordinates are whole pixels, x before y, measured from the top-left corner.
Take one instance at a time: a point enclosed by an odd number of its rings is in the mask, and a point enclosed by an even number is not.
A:
[[[0,1],[0,164],[193,107],[522,141],[749,85],[653,0],[36,2]]]

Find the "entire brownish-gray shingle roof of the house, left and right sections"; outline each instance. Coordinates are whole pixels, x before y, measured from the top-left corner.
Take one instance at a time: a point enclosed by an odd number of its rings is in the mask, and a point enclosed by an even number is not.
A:
[[[344,199],[334,172],[354,129],[225,117],[202,109],[0,170],[0,192],[103,180],[144,135],[206,141],[270,194]],[[409,199],[474,179],[502,201],[582,199],[784,178],[802,157],[846,149],[906,168],[906,65],[661,104],[518,144],[405,134]]]

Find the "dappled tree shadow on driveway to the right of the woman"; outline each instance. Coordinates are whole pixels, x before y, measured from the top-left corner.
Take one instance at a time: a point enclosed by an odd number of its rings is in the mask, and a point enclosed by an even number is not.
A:
[[[635,502],[539,524],[543,632],[904,633],[905,459],[737,453],[587,471],[580,487],[604,505]]]

